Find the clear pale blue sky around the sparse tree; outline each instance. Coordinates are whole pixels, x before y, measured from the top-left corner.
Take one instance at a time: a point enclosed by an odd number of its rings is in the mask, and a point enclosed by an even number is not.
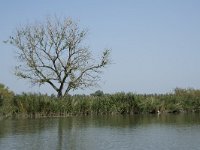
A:
[[[15,48],[4,44],[16,27],[57,15],[89,29],[94,55],[112,49],[113,65],[102,75],[104,92],[166,93],[200,88],[199,0],[2,0],[0,4],[0,83],[16,93],[47,92],[17,79]]]

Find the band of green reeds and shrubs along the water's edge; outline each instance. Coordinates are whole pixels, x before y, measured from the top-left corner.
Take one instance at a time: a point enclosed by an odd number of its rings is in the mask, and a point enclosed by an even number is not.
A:
[[[200,112],[200,90],[175,89],[169,94],[73,95],[63,98],[43,94],[15,95],[0,85],[0,116],[51,117],[70,115],[132,115],[147,113]]]

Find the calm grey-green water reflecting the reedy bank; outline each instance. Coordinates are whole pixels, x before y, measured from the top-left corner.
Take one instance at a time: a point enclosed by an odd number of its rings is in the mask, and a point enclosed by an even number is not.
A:
[[[0,150],[200,150],[200,115],[0,121]]]

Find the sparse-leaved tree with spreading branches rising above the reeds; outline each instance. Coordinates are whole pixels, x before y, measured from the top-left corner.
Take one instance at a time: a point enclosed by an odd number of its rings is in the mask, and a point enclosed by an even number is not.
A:
[[[33,84],[49,84],[58,97],[70,90],[97,85],[99,73],[109,64],[110,50],[96,62],[82,45],[86,30],[70,18],[48,18],[44,23],[16,29],[7,40],[17,47],[16,76]]]

